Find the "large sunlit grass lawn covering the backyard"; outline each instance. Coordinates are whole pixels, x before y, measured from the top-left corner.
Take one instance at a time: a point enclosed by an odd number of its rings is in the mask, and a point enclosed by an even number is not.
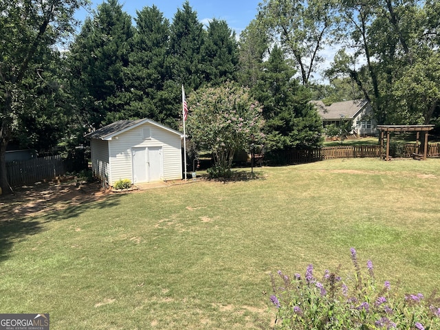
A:
[[[109,195],[0,223],[0,312],[51,329],[269,329],[270,276],[350,248],[377,281],[440,283],[440,159],[335,159]]]

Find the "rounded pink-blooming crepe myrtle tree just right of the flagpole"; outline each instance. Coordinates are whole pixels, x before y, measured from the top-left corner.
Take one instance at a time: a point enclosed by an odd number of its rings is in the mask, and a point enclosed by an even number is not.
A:
[[[214,174],[229,173],[234,153],[248,149],[252,135],[262,142],[262,108],[248,88],[231,82],[202,87],[190,94],[188,104],[188,135],[199,151],[212,153]]]

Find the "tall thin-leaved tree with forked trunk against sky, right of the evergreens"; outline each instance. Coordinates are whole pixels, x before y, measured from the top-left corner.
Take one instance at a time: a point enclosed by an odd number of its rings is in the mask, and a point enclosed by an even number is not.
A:
[[[303,85],[322,63],[338,15],[333,0],[265,0],[258,19],[267,27],[272,43],[280,43],[294,59]]]

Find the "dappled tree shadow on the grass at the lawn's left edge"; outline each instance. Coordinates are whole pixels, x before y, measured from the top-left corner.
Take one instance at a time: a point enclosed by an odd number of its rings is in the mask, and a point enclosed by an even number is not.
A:
[[[34,216],[18,216],[9,219],[0,219],[0,263],[10,256],[14,243],[43,232],[45,223],[63,221],[78,217],[81,213],[98,208],[105,210],[120,203],[120,195],[107,195],[96,201],[96,199],[84,199],[80,203],[73,203],[61,210],[47,210],[47,212]]]

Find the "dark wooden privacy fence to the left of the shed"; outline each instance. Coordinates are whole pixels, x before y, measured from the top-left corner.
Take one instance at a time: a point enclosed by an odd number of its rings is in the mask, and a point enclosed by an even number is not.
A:
[[[49,156],[6,163],[10,186],[34,184],[42,180],[52,180],[65,174],[61,156]]]

